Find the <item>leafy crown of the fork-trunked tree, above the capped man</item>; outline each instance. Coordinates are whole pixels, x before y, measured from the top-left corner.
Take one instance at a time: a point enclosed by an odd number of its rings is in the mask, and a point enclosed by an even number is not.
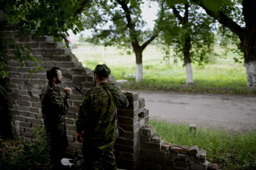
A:
[[[93,35],[85,39],[93,44],[103,44],[104,46],[115,45],[118,47],[131,48],[134,40],[146,40],[152,36],[151,30],[143,31],[145,21],[142,20],[140,5],[142,0],[136,1],[133,6],[128,6],[134,30],[129,30],[126,12],[121,8],[118,1],[95,0],[91,8],[83,11],[81,22],[83,28],[91,30]],[[109,26],[106,26],[109,24]]]

